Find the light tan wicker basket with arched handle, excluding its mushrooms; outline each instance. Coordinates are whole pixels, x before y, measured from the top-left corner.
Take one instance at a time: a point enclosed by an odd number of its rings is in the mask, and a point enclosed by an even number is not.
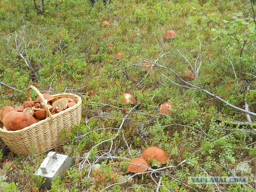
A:
[[[34,86],[29,86],[27,100],[30,100],[30,90],[36,91],[38,96],[47,106],[44,96]],[[46,107],[47,118],[32,124],[22,130],[6,131],[0,122],[0,137],[4,143],[18,156],[30,154],[41,154],[52,148],[69,141],[68,133],[73,130],[74,125],[79,125],[81,120],[82,100],[75,94],[61,93],[53,95],[57,98],[72,98],[77,104],[52,115]]]

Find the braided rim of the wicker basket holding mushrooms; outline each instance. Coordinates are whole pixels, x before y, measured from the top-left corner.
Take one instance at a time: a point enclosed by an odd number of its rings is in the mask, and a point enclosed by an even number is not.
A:
[[[72,94],[72,93],[59,93],[59,94],[54,94],[52,96],[55,96],[55,97],[64,97],[66,98],[67,96],[73,96],[74,98],[77,98],[77,104],[75,104],[74,106],[70,107],[70,108],[67,108],[65,110],[62,110],[61,112],[59,113],[56,113],[54,115],[52,115],[52,118],[51,117],[47,117],[46,119],[44,120],[40,120],[39,122],[37,123],[34,123],[28,127],[25,127],[21,130],[16,130],[16,131],[8,131],[8,130],[3,130],[2,128],[0,128],[0,132],[4,132],[4,133],[8,133],[8,134],[17,134],[18,132],[26,132],[26,130],[28,129],[32,129],[32,128],[38,128],[38,126],[40,126],[41,124],[44,124],[44,122],[47,122],[47,121],[53,121],[55,118],[58,118],[59,116],[62,116],[62,114],[70,111],[70,110],[73,110],[74,108],[77,108],[78,106],[81,105],[82,103],[82,98],[76,94]]]

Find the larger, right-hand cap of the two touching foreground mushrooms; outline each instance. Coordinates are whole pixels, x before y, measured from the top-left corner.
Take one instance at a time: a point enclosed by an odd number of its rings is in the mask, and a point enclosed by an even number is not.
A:
[[[168,156],[164,152],[164,150],[158,148],[158,147],[149,147],[146,150],[144,150],[140,156],[143,158],[146,162],[148,162],[148,159],[153,158],[160,162],[160,164],[166,164],[168,160]]]

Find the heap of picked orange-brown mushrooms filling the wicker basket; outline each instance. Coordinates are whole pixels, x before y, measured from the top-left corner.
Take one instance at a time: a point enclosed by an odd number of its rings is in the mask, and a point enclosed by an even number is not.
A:
[[[57,98],[50,94],[42,94],[47,103],[49,112],[54,115],[66,108],[70,108],[76,104],[72,98]],[[8,131],[21,130],[47,117],[44,102],[38,96],[34,101],[25,101],[22,106],[13,108],[12,106],[4,106],[0,108],[0,121]]]

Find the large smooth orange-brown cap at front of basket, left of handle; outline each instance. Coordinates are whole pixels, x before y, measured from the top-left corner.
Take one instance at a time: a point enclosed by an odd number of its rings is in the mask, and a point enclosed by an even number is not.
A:
[[[12,130],[20,130],[25,127],[28,127],[34,123],[37,123],[37,120],[30,114],[24,112],[15,112],[10,117],[10,127]]]

